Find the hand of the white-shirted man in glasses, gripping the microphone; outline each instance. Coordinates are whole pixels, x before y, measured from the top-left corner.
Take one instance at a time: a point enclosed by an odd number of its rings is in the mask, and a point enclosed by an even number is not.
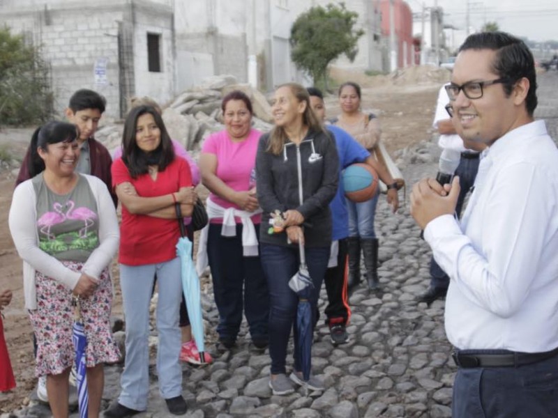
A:
[[[442,215],[453,215],[460,192],[459,178],[450,185],[440,185],[432,178],[425,178],[413,186],[411,193],[411,215],[421,227]]]

